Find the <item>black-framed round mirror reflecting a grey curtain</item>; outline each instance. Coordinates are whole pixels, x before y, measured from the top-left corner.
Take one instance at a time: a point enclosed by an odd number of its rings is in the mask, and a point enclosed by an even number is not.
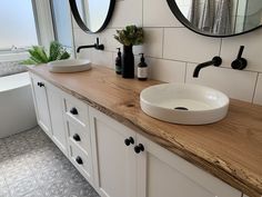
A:
[[[262,0],[167,0],[185,27],[209,37],[232,37],[262,26]]]

